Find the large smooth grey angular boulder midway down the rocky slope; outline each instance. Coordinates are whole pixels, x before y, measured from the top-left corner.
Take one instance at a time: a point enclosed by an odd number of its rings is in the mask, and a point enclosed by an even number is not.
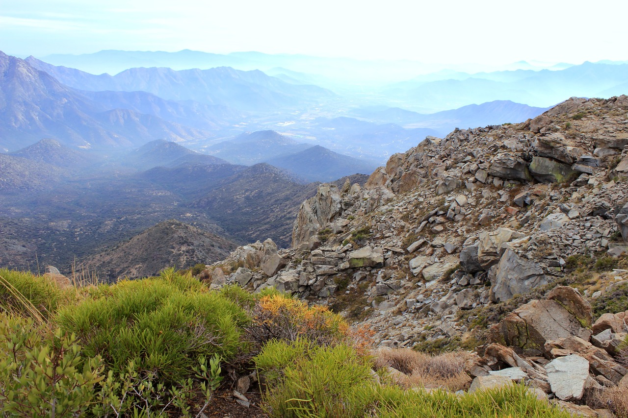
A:
[[[490,300],[504,302],[516,294],[527,294],[534,288],[548,284],[541,265],[526,260],[508,249],[499,264],[490,267]]]

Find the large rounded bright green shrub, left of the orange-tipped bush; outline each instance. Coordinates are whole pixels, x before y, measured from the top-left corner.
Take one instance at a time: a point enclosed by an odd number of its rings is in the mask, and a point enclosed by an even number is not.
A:
[[[233,358],[249,318],[226,297],[169,269],[157,278],[99,286],[92,298],[61,309],[58,321],[112,372],[133,363],[171,383],[187,377],[199,356]]]

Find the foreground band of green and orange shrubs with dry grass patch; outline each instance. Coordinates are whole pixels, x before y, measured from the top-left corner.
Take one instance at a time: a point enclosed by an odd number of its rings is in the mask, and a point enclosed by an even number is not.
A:
[[[45,276],[0,276],[3,418],[200,417],[227,375],[221,364],[244,368],[252,355],[271,417],[568,416],[522,386],[462,397],[408,392],[384,369],[377,383],[373,358],[344,319],[273,288],[212,291],[172,268],[64,291]],[[455,389],[462,357],[412,356],[406,366],[420,378]]]

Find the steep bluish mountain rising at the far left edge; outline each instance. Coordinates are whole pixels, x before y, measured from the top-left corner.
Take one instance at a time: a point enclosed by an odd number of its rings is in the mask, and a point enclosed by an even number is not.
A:
[[[0,149],[14,151],[43,137],[87,149],[210,136],[154,115],[106,110],[48,73],[1,52],[0,75]]]

